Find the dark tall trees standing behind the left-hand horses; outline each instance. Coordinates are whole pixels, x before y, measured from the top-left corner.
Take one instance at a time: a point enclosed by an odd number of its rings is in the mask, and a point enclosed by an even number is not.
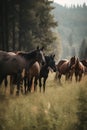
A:
[[[30,50],[50,45],[57,26],[48,0],[0,0],[0,49]]]

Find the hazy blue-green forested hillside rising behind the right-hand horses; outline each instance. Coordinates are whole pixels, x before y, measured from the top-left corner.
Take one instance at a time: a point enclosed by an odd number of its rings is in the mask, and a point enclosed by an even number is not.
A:
[[[63,7],[54,3],[53,6],[53,14],[58,22],[56,31],[61,38],[60,58],[72,55],[87,58],[87,5],[84,3],[82,6]]]

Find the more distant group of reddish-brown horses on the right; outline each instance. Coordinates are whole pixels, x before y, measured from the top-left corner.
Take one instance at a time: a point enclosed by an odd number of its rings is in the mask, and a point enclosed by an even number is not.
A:
[[[75,75],[75,80],[81,81],[82,76],[87,73],[87,60],[79,60],[75,56],[71,57],[70,60],[64,59],[60,60],[57,64],[56,77],[61,82],[61,76],[65,75],[65,80],[71,80],[73,75]]]

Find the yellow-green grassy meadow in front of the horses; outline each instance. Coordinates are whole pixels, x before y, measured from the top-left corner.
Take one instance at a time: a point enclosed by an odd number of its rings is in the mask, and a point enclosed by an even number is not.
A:
[[[0,130],[87,130],[87,76],[62,84],[50,73],[46,92],[6,94],[0,88]]]

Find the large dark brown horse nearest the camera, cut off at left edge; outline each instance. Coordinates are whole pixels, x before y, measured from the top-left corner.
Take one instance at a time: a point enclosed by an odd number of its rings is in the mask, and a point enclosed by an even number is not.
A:
[[[43,48],[37,47],[31,52],[19,52],[16,55],[0,51],[0,84],[7,75],[15,74],[17,76],[17,94],[19,94],[23,69],[27,71],[38,60],[45,62]]]

